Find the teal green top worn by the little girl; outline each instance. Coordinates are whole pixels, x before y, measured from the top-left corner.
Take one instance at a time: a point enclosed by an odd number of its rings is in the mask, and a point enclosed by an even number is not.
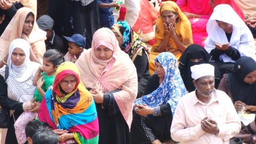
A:
[[[46,74],[44,72],[42,73],[42,75],[43,75],[42,81],[44,80],[44,84],[42,85],[42,89],[43,89],[44,92],[46,92],[47,89],[50,86],[52,86],[55,76],[54,75],[53,76],[46,76]],[[35,91],[34,98],[36,98],[37,102],[41,102],[43,100],[43,96],[39,93],[39,91],[37,89]]]

